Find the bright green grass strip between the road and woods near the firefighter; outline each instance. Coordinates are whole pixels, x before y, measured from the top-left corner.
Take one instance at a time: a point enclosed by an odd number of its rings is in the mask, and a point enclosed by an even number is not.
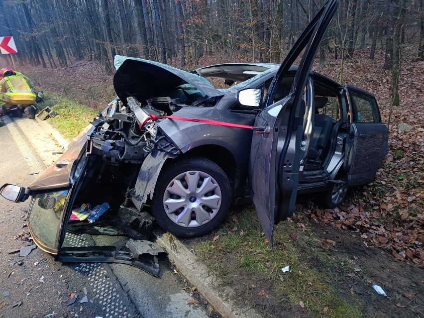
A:
[[[38,105],[53,109],[58,116],[49,118],[48,122],[55,127],[66,139],[72,140],[98,114],[86,105],[82,105],[52,92],[44,93],[44,102]]]

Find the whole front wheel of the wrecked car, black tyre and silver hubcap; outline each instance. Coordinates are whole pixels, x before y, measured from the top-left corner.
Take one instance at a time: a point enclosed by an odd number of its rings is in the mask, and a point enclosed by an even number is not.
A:
[[[209,233],[225,218],[231,187],[224,171],[203,157],[179,160],[161,172],[153,194],[152,214],[177,236]]]

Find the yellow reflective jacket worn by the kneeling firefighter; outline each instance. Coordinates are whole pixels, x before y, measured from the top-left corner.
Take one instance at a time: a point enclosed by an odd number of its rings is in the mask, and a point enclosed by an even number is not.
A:
[[[29,105],[35,103],[35,94],[28,83],[20,76],[3,77],[0,81],[0,92],[10,100],[9,104]]]

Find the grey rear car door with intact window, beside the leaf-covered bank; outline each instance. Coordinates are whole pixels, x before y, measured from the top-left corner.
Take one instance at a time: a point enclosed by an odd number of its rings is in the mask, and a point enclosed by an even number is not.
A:
[[[389,151],[389,130],[374,95],[350,85],[345,90],[351,113],[345,171],[348,185],[356,186],[374,180]]]

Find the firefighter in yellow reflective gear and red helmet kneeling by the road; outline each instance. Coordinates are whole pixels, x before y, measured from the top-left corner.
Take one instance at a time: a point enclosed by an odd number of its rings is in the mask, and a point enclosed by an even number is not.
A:
[[[8,110],[12,106],[22,105],[28,118],[35,119],[35,99],[36,95],[23,77],[9,68],[0,70],[0,106]]]

